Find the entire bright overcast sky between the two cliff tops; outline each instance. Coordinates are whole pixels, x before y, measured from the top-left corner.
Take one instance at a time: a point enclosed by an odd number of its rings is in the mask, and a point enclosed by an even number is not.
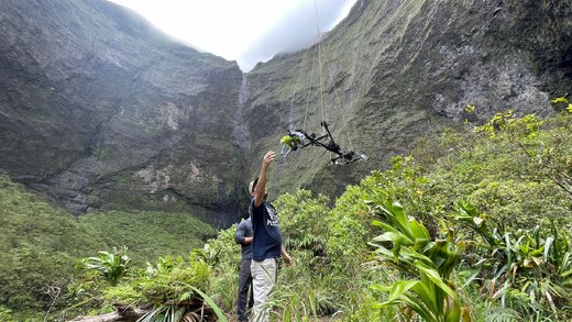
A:
[[[277,53],[302,49],[348,15],[356,0],[111,0],[202,52],[249,71]],[[318,14],[316,14],[318,13]]]

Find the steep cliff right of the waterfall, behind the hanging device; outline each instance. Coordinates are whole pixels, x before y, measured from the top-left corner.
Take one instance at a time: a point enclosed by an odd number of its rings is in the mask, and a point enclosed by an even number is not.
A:
[[[326,120],[342,147],[370,156],[332,167],[310,147],[272,173],[277,192],[337,193],[444,126],[507,109],[551,113],[549,99],[572,88],[572,2],[361,0],[321,51],[276,57],[248,77],[251,155],[277,149],[290,123],[321,134]]]

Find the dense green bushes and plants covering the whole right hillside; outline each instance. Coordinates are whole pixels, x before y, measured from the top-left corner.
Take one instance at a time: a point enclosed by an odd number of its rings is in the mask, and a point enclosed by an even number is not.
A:
[[[565,109],[544,120],[501,113],[475,132],[448,131],[414,156],[394,157],[334,207],[305,190],[280,196],[294,265],[282,268],[274,317],[572,319],[571,126]],[[232,234],[204,251],[213,268],[207,293],[229,313]]]

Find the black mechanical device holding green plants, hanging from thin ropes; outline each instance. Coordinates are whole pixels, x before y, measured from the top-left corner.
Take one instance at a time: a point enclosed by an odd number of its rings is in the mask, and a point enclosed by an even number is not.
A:
[[[334,165],[346,165],[356,160],[367,159],[367,157],[363,154],[355,153],[351,149],[342,149],[340,145],[333,140],[330,129],[328,127],[328,123],[322,121],[320,125],[324,130],[324,134],[320,136],[316,135],[316,133],[308,134],[304,130],[288,130],[288,135],[283,136],[280,140],[283,145],[283,154],[286,153],[286,155],[288,155],[292,151],[297,151],[298,148],[314,145],[323,147],[327,151],[336,154],[336,156],[331,158],[331,163]]]

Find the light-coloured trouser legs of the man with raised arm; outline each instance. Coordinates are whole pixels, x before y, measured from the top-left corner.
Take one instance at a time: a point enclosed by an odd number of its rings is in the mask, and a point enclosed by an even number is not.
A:
[[[277,263],[275,258],[264,260],[252,260],[252,286],[254,290],[253,322],[270,321],[268,310],[264,304],[271,297],[271,291],[276,282]]]

